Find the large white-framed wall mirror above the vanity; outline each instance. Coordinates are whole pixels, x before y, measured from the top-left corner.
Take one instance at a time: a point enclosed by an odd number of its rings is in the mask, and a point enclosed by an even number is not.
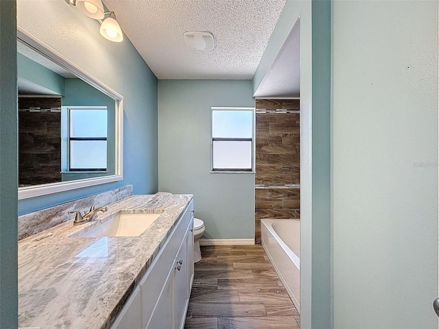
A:
[[[123,97],[17,27],[19,199],[122,179]]]

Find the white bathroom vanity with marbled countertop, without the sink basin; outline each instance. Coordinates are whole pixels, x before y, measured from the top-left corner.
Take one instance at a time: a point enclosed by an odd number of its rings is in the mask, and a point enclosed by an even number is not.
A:
[[[87,236],[121,210],[159,215],[139,236]],[[192,195],[132,195],[19,241],[19,326],[183,328],[192,231]]]

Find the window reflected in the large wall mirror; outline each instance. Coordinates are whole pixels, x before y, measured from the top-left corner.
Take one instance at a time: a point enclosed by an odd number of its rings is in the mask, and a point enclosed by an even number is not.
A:
[[[106,170],[106,108],[69,108],[69,171]]]

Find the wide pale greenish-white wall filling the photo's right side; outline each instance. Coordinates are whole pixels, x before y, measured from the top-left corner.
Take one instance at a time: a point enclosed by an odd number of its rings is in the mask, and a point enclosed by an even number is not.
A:
[[[438,328],[438,2],[333,1],[336,329]]]

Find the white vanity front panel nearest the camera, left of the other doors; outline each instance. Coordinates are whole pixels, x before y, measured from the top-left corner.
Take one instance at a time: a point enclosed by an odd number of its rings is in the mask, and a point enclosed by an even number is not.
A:
[[[121,310],[111,329],[141,329],[141,297],[137,287]]]

